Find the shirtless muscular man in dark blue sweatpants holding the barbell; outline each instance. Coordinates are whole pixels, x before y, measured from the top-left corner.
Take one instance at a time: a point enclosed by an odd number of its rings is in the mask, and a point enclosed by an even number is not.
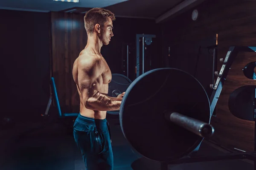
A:
[[[80,113],[73,135],[87,170],[113,170],[113,152],[107,111],[120,109],[124,93],[109,97],[111,70],[100,53],[113,37],[115,16],[111,11],[93,8],[84,16],[87,45],[73,65],[73,79],[80,96]]]

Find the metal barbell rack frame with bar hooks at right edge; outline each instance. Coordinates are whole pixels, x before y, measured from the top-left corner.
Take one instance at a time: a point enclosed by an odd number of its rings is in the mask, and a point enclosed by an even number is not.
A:
[[[209,99],[210,101],[210,117],[215,109],[215,106],[218,102],[218,98],[221,94],[224,82],[227,78],[228,71],[235,60],[237,54],[239,52],[256,52],[256,47],[253,46],[230,46],[225,59],[220,59],[222,62],[222,67],[220,72],[218,73],[215,71],[215,76],[218,78],[216,79],[215,84],[210,85],[213,89],[212,95]],[[254,98],[254,103],[256,103],[256,97]],[[254,105],[254,117],[256,117],[256,105]],[[181,159],[177,160],[170,160],[161,162],[161,170],[168,170],[169,164],[183,164],[183,163],[192,163],[192,162],[204,162],[204,161],[218,161],[218,160],[230,160],[230,159],[249,159],[254,161],[254,170],[256,170],[256,118],[254,119],[255,122],[255,133],[254,133],[254,151],[251,152],[240,152],[240,153],[223,153],[219,155],[212,155],[212,156],[186,156]]]

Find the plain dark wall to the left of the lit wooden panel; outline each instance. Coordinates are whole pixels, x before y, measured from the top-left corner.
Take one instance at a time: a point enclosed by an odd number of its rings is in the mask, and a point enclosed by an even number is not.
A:
[[[50,14],[0,10],[1,117],[29,119],[49,99]],[[39,111],[39,112],[38,112]]]

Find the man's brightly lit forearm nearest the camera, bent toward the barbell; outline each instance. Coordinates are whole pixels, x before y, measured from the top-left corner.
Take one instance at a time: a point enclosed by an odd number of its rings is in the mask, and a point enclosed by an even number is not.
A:
[[[85,107],[96,111],[116,111],[120,109],[122,98],[109,97],[96,92],[85,103]]]

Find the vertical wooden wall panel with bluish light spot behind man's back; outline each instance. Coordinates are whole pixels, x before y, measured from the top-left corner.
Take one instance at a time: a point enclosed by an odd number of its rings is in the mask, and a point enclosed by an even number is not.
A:
[[[73,63],[87,43],[83,14],[52,12],[52,76],[62,112],[79,112],[79,95],[73,81]]]

